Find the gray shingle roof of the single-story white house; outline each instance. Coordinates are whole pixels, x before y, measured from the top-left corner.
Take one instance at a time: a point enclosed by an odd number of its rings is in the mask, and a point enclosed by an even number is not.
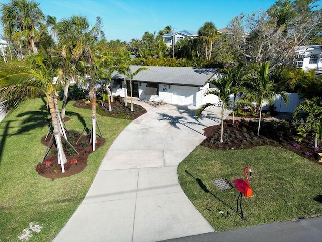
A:
[[[203,86],[218,71],[217,68],[130,66],[131,72],[135,72],[140,67],[146,67],[149,70],[139,72],[134,76],[133,81],[182,86]],[[114,72],[112,77],[124,79],[124,75],[117,72]]]

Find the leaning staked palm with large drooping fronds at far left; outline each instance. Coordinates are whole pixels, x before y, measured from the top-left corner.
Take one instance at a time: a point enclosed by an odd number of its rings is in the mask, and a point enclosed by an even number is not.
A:
[[[58,163],[64,172],[67,159],[62,148],[61,126],[55,108],[56,85],[52,82],[55,69],[42,55],[35,55],[31,62],[0,63],[0,70],[0,95],[13,104],[7,108],[17,108],[22,101],[36,98],[40,93],[45,94],[54,129]]]

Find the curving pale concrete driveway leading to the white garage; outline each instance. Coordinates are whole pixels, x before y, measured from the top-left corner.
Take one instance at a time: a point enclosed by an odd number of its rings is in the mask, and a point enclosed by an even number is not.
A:
[[[178,164],[220,124],[220,109],[166,104],[135,119],[108,150],[85,199],[53,241],[160,241],[213,232],[182,191]],[[227,116],[228,113],[225,113]]]

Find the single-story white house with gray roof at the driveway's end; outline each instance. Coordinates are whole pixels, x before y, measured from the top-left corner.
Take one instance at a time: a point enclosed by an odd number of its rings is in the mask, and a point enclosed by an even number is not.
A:
[[[140,67],[143,66],[130,66],[131,72],[135,72]],[[197,107],[207,102],[218,102],[217,96],[203,95],[209,87],[207,81],[217,76],[217,68],[144,67],[149,70],[139,72],[132,80],[133,97]],[[124,75],[115,72],[112,77],[113,95],[124,97]],[[130,96],[128,78],[127,96]]]

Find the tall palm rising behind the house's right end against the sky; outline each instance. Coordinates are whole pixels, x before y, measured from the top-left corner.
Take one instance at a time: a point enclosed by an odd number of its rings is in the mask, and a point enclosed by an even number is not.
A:
[[[198,30],[199,39],[204,44],[206,60],[210,61],[213,42],[218,37],[217,28],[212,22],[205,22]],[[208,55],[209,51],[209,55]]]

